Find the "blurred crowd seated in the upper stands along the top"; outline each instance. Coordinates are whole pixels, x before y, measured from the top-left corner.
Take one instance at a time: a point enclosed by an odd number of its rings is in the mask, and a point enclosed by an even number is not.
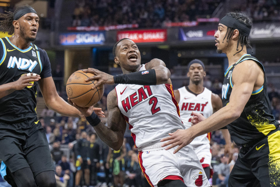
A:
[[[169,22],[195,21],[210,17],[225,0],[76,0],[72,26],[139,24],[139,28],[161,28]],[[239,9],[254,21],[280,19],[276,0],[242,0]]]

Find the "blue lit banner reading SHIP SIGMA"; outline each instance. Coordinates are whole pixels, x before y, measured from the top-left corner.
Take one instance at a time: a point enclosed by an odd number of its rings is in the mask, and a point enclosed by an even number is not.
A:
[[[61,45],[103,44],[105,42],[105,31],[62,33],[59,39]]]

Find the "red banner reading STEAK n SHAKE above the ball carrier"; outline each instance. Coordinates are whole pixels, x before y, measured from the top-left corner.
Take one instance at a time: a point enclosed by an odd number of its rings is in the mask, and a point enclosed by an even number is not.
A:
[[[164,42],[167,40],[167,31],[166,29],[118,31],[117,41],[122,38],[132,39],[135,43]]]

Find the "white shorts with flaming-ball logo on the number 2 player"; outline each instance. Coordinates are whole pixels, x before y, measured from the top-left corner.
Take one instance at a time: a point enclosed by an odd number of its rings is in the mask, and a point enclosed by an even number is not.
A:
[[[156,144],[161,145],[162,142]],[[151,148],[150,151],[139,151],[139,163],[149,184],[157,187],[157,183],[163,179],[173,179],[183,181],[188,187],[210,187],[192,146],[185,146],[173,154],[175,149],[176,147],[169,150]]]

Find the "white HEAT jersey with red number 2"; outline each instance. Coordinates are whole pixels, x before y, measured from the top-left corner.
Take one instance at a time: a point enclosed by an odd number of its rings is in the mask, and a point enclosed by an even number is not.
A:
[[[145,65],[139,71],[143,70],[146,70]],[[118,84],[115,91],[118,107],[129,124],[135,147],[141,149],[159,142],[170,132],[185,129],[172,85]]]

